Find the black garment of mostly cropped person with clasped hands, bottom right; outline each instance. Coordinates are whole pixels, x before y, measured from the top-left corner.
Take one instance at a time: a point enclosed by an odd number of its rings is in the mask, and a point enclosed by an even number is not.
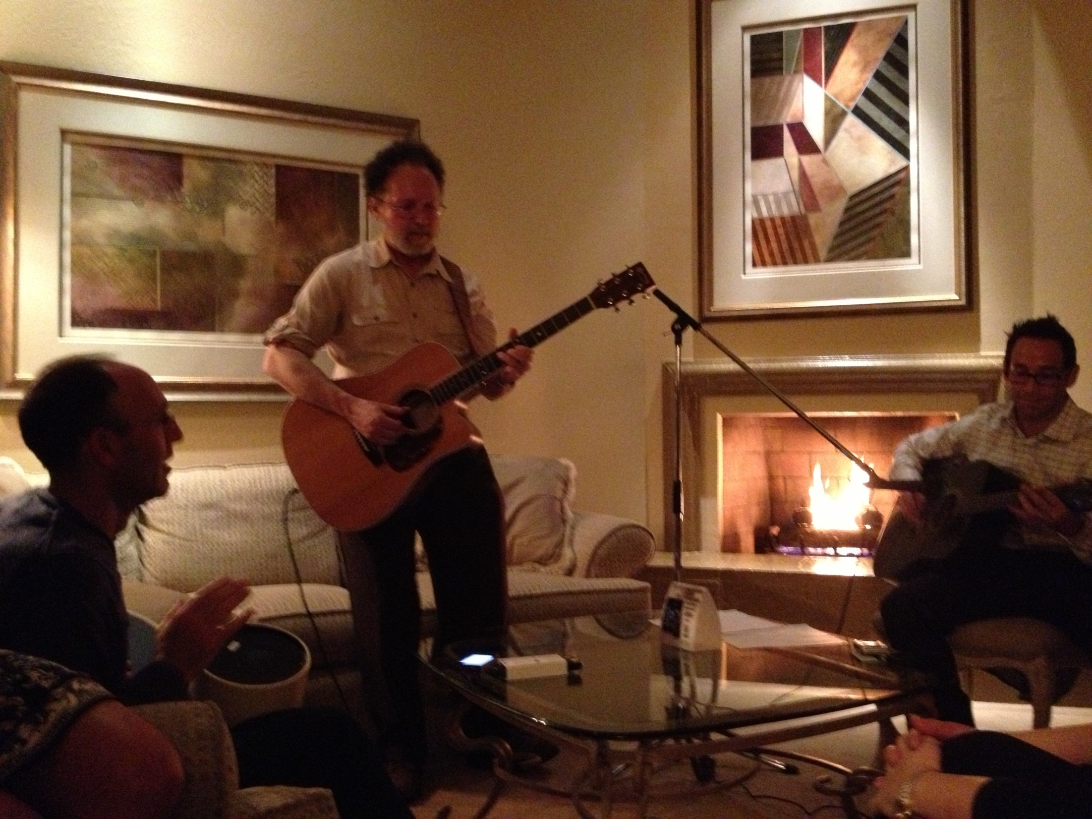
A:
[[[975,731],[946,740],[940,770],[988,776],[974,819],[1084,819],[1092,816],[1092,769],[1007,734]]]

